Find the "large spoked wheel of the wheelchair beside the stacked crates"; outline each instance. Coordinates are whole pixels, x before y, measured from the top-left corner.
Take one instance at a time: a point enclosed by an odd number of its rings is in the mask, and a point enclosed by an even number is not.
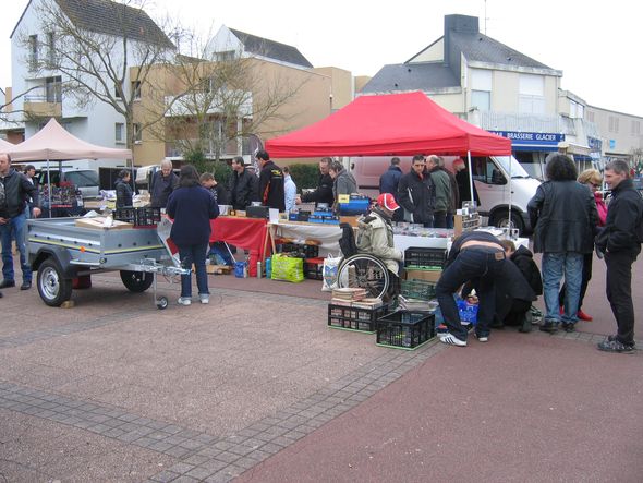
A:
[[[379,258],[359,254],[341,263],[337,283],[341,288],[366,289],[368,297],[381,298],[388,290],[390,277],[388,268]]]

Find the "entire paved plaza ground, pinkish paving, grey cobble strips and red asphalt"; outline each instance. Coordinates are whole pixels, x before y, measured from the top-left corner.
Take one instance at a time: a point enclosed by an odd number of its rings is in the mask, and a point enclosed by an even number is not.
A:
[[[162,281],[166,311],[113,274],[72,309],[4,290],[0,481],[641,481],[643,351],[595,349],[594,267],[577,333],[415,351],[328,329],[313,280],[210,276],[187,307]]]

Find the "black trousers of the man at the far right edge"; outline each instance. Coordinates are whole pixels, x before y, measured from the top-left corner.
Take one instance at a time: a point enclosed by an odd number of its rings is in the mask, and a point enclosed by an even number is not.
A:
[[[632,264],[635,252],[605,254],[607,265],[607,300],[618,326],[617,338],[622,343],[634,343],[634,305],[632,303]]]

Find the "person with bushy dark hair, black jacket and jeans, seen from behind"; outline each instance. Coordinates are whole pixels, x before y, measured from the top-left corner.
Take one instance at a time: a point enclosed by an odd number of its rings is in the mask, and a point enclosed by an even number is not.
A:
[[[598,212],[594,195],[577,181],[574,162],[562,154],[549,157],[547,181],[527,204],[534,229],[534,252],[543,253],[543,291],[547,314],[541,330],[555,333],[561,322],[558,292],[565,275],[567,293],[562,328],[573,331],[579,321],[583,256],[594,250]]]

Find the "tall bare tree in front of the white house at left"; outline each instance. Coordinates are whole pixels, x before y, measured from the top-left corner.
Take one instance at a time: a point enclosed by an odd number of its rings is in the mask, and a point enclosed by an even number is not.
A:
[[[25,60],[32,72],[60,75],[61,96],[81,109],[105,102],[123,116],[129,148],[141,130],[162,118],[161,112],[135,125],[134,111],[153,67],[167,64],[174,50],[139,4],[43,0],[36,8],[46,40],[21,38],[31,52]]]

